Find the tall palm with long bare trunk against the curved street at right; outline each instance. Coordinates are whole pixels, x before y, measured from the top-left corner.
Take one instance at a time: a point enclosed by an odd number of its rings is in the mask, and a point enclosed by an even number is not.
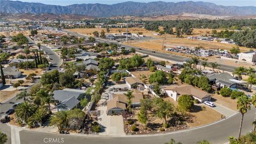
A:
[[[241,97],[237,98],[237,110],[242,114],[241,122],[240,122],[240,128],[239,128],[239,136],[241,137],[241,130],[242,130],[242,124],[244,119],[244,114],[247,112],[247,110],[251,109],[251,103],[248,97],[246,95],[242,95]]]

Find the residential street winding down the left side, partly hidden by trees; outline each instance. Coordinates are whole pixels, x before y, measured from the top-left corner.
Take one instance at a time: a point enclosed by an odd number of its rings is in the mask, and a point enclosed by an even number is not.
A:
[[[34,43],[34,42],[31,41],[31,39],[29,39],[29,43]],[[35,44],[33,44],[33,45],[35,45]],[[54,53],[49,47],[46,47],[46,46],[43,46],[43,45],[41,47],[42,47],[42,50],[47,52],[49,54],[49,57],[52,58],[53,66],[51,68],[52,69],[58,69],[59,66],[61,65],[60,56],[58,54]],[[30,89],[30,87],[28,87],[27,91],[29,91],[29,89]],[[10,99],[10,100],[8,100],[4,103],[1,103],[0,104],[0,116],[4,115],[5,112],[8,109],[12,108],[13,104],[17,103],[17,102],[23,102],[23,100],[16,100],[16,97],[13,97],[12,99]],[[7,126],[6,124],[0,123],[0,129],[2,130],[3,133],[7,134],[7,137],[9,139],[7,141],[7,143],[11,143],[11,129],[10,129],[10,127]]]

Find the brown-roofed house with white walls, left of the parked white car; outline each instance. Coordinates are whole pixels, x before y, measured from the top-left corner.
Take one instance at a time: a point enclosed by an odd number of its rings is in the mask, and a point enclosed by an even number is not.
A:
[[[164,90],[165,93],[175,101],[178,101],[179,97],[184,94],[191,95],[194,99],[197,99],[200,102],[211,100],[210,94],[198,90],[192,85],[170,85],[165,87]]]

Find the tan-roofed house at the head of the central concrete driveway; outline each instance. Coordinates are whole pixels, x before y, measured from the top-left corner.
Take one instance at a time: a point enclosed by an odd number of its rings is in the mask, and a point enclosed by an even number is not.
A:
[[[140,100],[143,99],[142,93],[132,93],[134,98],[132,98],[131,107],[140,107]],[[127,97],[124,93],[110,95],[109,101],[107,101],[107,114],[122,114],[127,107]]]

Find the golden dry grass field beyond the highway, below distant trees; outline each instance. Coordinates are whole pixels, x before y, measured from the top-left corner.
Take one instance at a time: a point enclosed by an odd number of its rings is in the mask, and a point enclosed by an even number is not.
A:
[[[162,29],[162,28],[160,28]],[[93,36],[93,31],[101,31],[104,30],[106,32],[106,28],[87,28],[87,29],[68,29],[70,31],[74,31],[77,33],[81,33],[84,35]],[[219,32],[221,29],[218,29]],[[109,33],[123,33],[126,31],[126,28],[110,28]],[[175,29],[174,29],[175,31]],[[156,33],[154,31],[149,31],[144,28],[129,28],[129,32],[131,33],[139,33],[142,32],[145,36],[151,36],[154,37],[154,39],[145,39],[145,40],[139,40],[139,41],[132,41],[132,43],[126,43],[128,45],[133,46],[139,46],[145,49],[150,50],[156,50],[156,51],[162,51],[163,47],[163,40],[164,40],[164,46],[165,47],[175,47],[175,46],[188,46],[188,47],[196,47],[196,46],[203,46],[206,49],[224,49],[224,50],[230,50],[233,46],[232,44],[223,44],[219,42],[207,42],[207,41],[198,41],[195,39],[188,39],[186,38],[187,35],[183,35],[184,38],[177,38],[176,35],[161,35],[161,36],[155,36],[153,33]],[[200,36],[205,34],[211,34],[212,29],[194,29],[193,35],[190,36]],[[250,49],[247,47],[240,46],[239,47],[242,52],[249,51]]]

